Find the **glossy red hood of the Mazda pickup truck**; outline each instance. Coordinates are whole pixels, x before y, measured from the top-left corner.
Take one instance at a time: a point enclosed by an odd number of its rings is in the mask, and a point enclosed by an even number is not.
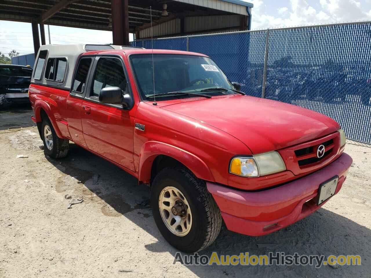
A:
[[[340,128],[331,118],[312,110],[252,96],[232,95],[163,104],[162,109],[229,133],[253,154],[320,138]]]

